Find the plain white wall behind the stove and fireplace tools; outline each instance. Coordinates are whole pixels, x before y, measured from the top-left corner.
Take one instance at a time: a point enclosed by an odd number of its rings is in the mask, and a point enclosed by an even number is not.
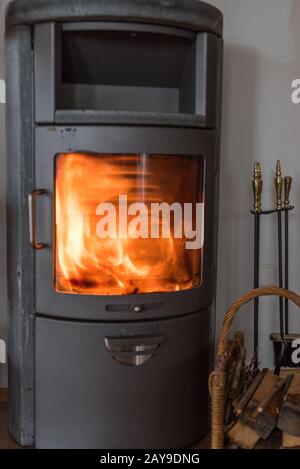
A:
[[[4,8],[0,0],[0,78],[4,76]],[[300,78],[300,0],[208,0],[225,15],[225,75],[221,165],[219,274],[217,322],[240,294],[252,287],[251,178],[254,161],[261,161],[264,205],[274,203],[275,161],[295,179],[296,205],[291,225],[291,288],[300,291],[300,105],[291,103],[291,82]],[[0,337],[6,331],[5,139],[4,105],[0,104]],[[276,223],[264,220],[262,283],[277,277]],[[236,327],[252,336],[251,308]],[[275,315],[276,313],[276,315]],[[277,302],[262,302],[261,358],[271,365],[271,331],[278,330]],[[300,312],[293,313],[300,332]],[[249,342],[251,342],[249,340]],[[250,344],[249,344],[250,347]],[[0,386],[6,376],[0,374]]]

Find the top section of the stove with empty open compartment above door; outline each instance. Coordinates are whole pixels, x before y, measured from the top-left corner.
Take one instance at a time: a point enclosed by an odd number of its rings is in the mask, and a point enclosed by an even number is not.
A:
[[[222,21],[194,0],[16,0],[7,13],[8,28],[34,28],[37,124],[216,127]]]

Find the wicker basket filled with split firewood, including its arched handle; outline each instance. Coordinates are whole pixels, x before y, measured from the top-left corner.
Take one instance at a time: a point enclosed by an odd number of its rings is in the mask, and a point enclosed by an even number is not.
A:
[[[228,335],[240,307],[260,296],[280,296],[300,307],[300,296],[278,287],[252,290],[239,298],[225,316],[218,344],[216,369],[209,379],[213,449],[234,444],[254,449],[282,433],[280,446],[300,448],[300,370],[259,370],[256,358],[245,365],[244,338]]]

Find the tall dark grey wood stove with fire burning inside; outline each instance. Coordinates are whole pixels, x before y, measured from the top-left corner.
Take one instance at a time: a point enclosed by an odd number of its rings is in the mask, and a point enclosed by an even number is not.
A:
[[[190,445],[214,337],[222,15],[15,0],[6,54],[10,432],[38,448]],[[101,204],[120,228],[141,202],[200,204],[200,245],[161,236],[167,214],[156,236],[97,237]]]

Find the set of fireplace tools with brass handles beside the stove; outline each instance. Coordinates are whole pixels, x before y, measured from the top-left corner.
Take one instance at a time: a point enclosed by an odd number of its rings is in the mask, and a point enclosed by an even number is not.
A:
[[[261,216],[277,214],[278,235],[278,270],[280,288],[289,289],[289,215],[294,207],[290,203],[290,192],[292,178],[282,177],[281,163],[277,161],[276,177],[276,208],[273,210],[262,210],[263,180],[260,163],[254,165],[254,206],[251,213],[254,215],[254,288],[259,288],[259,259],[260,259],[260,223]],[[284,199],[283,199],[284,192]],[[284,247],[282,215],[284,214]],[[291,342],[296,337],[290,335],[289,330],[289,300],[279,298],[279,323],[280,334],[272,334],[274,343],[275,373],[279,374],[282,366],[295,367],[291,360]],[[258,324],[259,324],[259,299],[254,300],[254,354],[255,364],[258,364]]]

